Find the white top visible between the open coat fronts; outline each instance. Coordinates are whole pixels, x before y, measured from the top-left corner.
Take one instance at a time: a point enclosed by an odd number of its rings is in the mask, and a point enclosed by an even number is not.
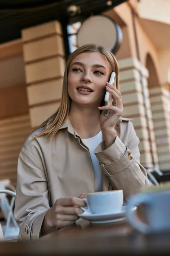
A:
[[[103,141],[102,131],[99,131],[94,137],[89,139],[82,139],[82,142],[88,147],[91,155],[91,160],[94,169],[94,182],[95,182],[95,192],[101,191],[101,181],[102,181],[102,170],[99,164],[99,160],[94,154],[94,149]]]

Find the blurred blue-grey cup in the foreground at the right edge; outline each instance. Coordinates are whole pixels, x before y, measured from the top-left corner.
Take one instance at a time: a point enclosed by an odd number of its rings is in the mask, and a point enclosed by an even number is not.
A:
[[[132,206],[139,205],[147,223],[137,217],[136,211],[130,211]],[[130,198],[127,204],[127,219],[142,233],[170,231],[170,188],[151,188]]]

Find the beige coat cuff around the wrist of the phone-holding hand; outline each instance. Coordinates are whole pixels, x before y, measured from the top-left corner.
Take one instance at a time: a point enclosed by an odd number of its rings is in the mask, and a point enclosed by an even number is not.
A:
[[[94,154],[99,160],[100,164],[110,164],[119,160],[126,152],[126,146],[122,143],[118,136],[115,142],[109,147],[105,148],[105,142],[100,143],[94,150]]]

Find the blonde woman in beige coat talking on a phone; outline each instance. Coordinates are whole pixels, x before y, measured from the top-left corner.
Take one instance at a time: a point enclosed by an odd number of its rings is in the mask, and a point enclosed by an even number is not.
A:
[[[58,111],[20,152],[14,214],[23,239],[74,223],[89,192],[123,189],[127,199],[149,185],[133,125],[120,118],[118,75],[114,55],[102,47],[85,45],[70,55]],[[106,91],[113,105],[103,105]]]

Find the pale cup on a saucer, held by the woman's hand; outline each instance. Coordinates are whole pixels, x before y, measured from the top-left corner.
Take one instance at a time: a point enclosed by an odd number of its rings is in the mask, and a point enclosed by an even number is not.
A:
[[[94,192],[83,198],[88,209],[81,207],[85,212],[91,214],[105,214],[120,212],[123,205],[123,190]]]

